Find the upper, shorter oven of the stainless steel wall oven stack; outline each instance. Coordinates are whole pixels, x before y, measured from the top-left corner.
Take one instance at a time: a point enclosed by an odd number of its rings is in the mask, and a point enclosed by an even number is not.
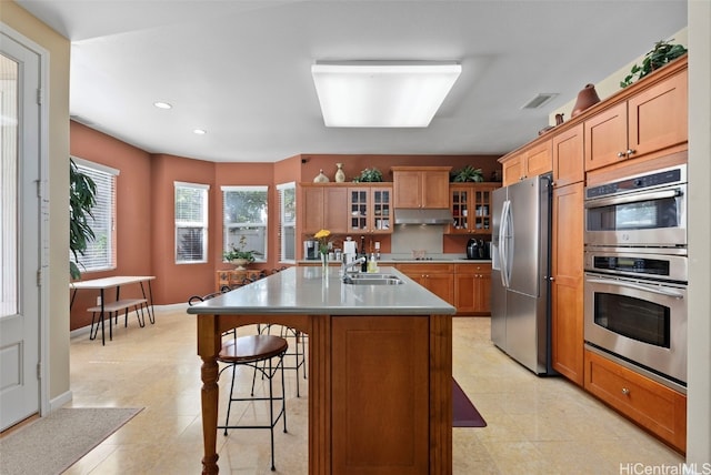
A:
[[[687,165],[585,189],[587,246],[687,250]]]

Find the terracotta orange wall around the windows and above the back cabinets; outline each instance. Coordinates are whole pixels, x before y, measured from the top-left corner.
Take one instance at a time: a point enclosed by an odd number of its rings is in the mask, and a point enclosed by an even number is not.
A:
[[[150,154],[104,133],[71,122],[71,154],[120,170],[117,180],[117,269],[86,273],[83,279],[108,275],[154,275],[153,301],[158,305],[187,302],[194,294],[214,290],[216,271],[222,263],[222,185],[268,185],[269,220],[278,221],[276,184],[310,182],[323,169],[332,180],[336,163],[343,163],[347,181],[365,168],[377,166],[384,181],[392,181],[393,165],[452,165],[481,168],[488,179],[500,172],[498,156],[489,155],[339,155],[299,154],[277,163],[213,163],[168,154]],[[209,260],[204,264],[176,264],[173,183],[201,183],[209,192]],[[274,269],[278,263],[277,233],[269,233],[269,259],[258,267]],[[445,252],[462,252],[465,236],[444,239]],[[384,252],[387,252],[385,250]],[[138,296],[138,287],[121,290],[122,297]],[[96,304],[98,292],[82,291],[72,306],[71,330],[91,322],[86,312]]]

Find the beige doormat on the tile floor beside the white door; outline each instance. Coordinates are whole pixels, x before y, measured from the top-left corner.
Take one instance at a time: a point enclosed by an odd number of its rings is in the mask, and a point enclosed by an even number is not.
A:
[[[0,438],[0,474],[61,474],[142,408],[60,408]]]

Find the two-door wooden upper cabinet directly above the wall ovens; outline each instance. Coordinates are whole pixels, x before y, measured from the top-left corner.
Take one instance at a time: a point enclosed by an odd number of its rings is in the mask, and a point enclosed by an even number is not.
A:
[[[650,78],[647,88],[584,121],[585,171],[687,142],[687,59],[667,68],[671,75]]]

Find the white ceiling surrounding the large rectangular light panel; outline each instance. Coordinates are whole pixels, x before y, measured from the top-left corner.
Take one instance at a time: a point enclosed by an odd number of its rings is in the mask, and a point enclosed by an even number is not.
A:
[[[685,0],[16,1],[72,41],[72,117],[148,152],[216,162],[505,153],[687,24]],[[427,129],[328,129],[316,60],[458,60],[463,71]],[[521,109],[547,92],[560,95]]]

